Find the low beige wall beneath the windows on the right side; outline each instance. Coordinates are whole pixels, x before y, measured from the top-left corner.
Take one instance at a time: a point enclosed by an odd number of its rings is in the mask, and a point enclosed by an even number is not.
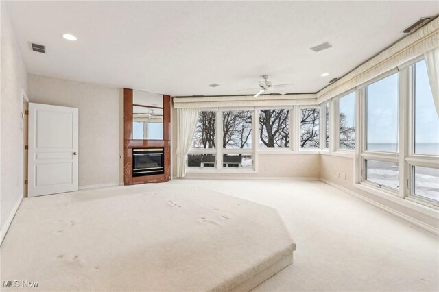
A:
[[[413,219],[423,222],[428,226],[438,228],[437,217],[430,217],[421,212],[417,212],[416,210],[412,210],[412,208],[401,206],[401,204],[396,204],[389,201],[388,199],[383,199],[382,197],[378,197],[377,195],[372,195],[371,193],[361,191],[358,188],[355,188],[353,181],[353,166],[353,158],[322,154],[320,155],[320,178],[322,178],[322,180],[324,181],[332,182],[333,184],[342,186],[343,188],[348,189],[348,191],[357,193],[357,195],[361,195],[362,197],[365,197],[372,202],[376,202],[377,204],[385,206],[386,208],[390,208],[392,210],[395,210],[396,212],[402,213],[403,215],[412,217]]]

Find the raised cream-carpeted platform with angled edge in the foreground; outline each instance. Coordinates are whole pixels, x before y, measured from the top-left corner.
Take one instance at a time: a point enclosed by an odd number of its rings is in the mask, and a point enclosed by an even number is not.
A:
[[[114,187],[24,199],[1,280],[40,291],[248,291],[294,249],[274,208],[173,182]]]

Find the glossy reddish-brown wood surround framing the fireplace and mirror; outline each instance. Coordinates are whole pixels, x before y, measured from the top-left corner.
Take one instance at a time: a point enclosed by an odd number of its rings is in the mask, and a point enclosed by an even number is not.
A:
[[[123,183],[146,184],[148,182],[167,182],[171,180],[171,97],[163,95],[163,140],[132,139],[132,93],[130,88],[123,88]],[[157,175],[132,176],[133,148],[163,148],[165,152],[165,173]]]

